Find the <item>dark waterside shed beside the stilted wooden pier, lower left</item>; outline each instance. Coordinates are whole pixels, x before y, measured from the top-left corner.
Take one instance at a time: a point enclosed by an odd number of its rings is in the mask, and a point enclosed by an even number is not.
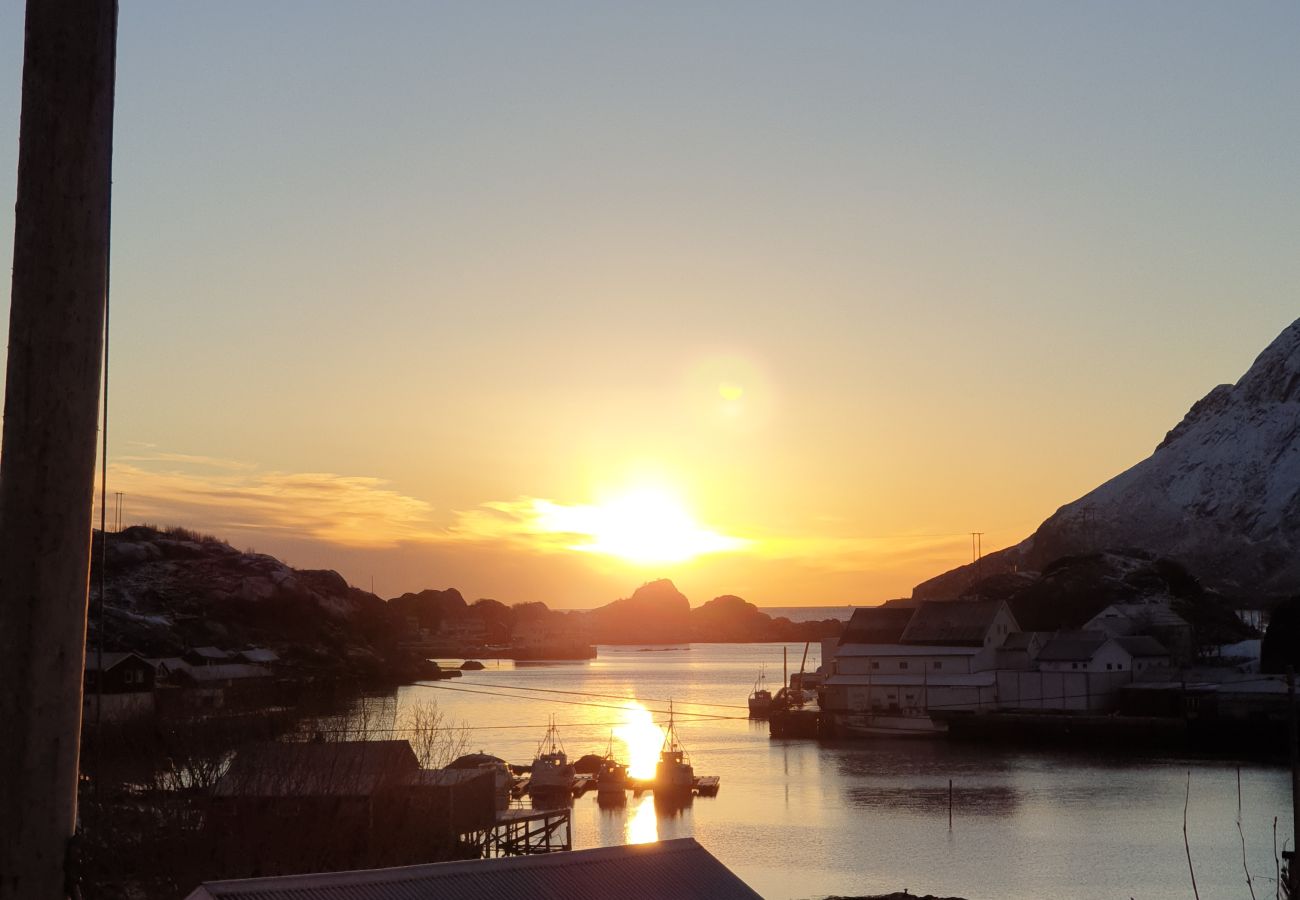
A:
[[[313,871],[447,858],[495,823],[482,770],[429,771],[404,740],[242,748],[207,819],[224,871]]]

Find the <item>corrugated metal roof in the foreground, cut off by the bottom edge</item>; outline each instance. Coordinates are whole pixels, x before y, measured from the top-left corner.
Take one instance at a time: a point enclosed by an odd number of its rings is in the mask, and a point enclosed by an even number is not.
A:
[[[753,900],[694,838],[400,869],[208,882],[187,900]]]

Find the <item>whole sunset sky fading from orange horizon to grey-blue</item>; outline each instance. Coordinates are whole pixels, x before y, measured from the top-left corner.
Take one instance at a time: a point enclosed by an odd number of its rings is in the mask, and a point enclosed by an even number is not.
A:
[[[1292,3],[126,0],[108,489],[385,597],[906,596],[1300,315],[1296,34]],[[6,248],[21,72],[0,0]]]

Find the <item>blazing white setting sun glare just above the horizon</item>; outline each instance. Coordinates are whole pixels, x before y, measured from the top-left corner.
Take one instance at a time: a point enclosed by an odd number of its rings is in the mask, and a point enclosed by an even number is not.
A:
[[[538,514],[546,531],[578,538],[571,550],[638,564],[686,562],[746,545],[701,525],[675,494],[659,486],[630,489],[597,505],[546,505]]]

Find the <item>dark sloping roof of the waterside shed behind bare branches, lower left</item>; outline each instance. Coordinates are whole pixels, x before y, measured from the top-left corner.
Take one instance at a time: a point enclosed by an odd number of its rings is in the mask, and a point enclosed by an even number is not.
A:
[[[214,797],[365,797],[420,770],[404,740],[263,743],[242,748]]]

